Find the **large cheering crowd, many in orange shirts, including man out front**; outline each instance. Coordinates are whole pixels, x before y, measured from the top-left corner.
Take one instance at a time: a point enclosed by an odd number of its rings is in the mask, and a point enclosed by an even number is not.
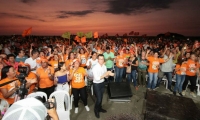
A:
[[[105,82],[129,82],[136,90],[156,90],[166,76],[174,95],[184,96],[190,81],[190,95],[196,97],[200,75],[198,40],[138,37],[77,43],[61,37],[12,37],[1,42],[0,84],[17,79],[18,68],[26,66],[28,94],[42,91],[49,97],[56,90],[68,91],[74,96],[75,113],[79,98],[86,111],[90,110],[87,91],[92,84],[97,98],[95,116],[99,118],[99,112],[106,112],[101,106]],[[176,78],[173,88],[172,78]],[[0,87],[0,98],[13,104],[19,86],[20,82],[14,81]]]

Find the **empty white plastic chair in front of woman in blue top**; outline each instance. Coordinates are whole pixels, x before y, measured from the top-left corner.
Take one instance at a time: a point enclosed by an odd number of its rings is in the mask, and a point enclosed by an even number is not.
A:
[[[55,91],[50,97],[56,100],[56,111],[60,120],[70,120],[70,97],[67,91]]]

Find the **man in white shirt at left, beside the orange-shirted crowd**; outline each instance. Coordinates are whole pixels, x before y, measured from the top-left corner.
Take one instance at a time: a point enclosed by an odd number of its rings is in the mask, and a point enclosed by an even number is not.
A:
[[[31,72],[36,73],[37,63],[36,58],[39,56],[39,51],[34,49],[31,51],[31,57],[25,60],[31,66]]]

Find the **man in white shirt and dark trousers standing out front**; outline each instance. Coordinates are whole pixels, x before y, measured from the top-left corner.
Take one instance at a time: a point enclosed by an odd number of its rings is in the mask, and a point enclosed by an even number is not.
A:
[[[102,108],[103,92],[105,88],[104,78],[114,76],[114,73],[112,73],[111,71],[107,71],[107,68],[104,65],[104,56],[102,54],[98,55],[98,63],[92,68],[92,73],[94,76],[94,94],[96,96],[94,113],[97,118],[100,118],[99,112],[107,112]]]

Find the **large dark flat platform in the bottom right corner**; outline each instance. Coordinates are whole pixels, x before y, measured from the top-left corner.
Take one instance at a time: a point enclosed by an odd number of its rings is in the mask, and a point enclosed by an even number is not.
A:
[[[200,111],[192,99],[146,92],[145,120],[200,120]]]

